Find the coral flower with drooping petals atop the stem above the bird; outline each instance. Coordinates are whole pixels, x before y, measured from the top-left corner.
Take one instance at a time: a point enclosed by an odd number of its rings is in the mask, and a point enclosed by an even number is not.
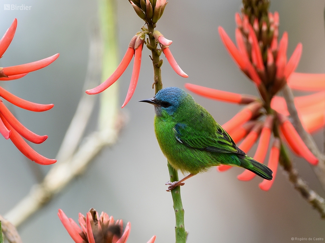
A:
[[[158,60],[151,57],[151,60],[156,67],[160,68],[162,66],[162,59],[159,60],[159,56],[163,52],[174,71],[182,77],[188,77],[188,75],[178,66],[169,50],[169,45],[173,41],[167,40],[162,33],[160,33],[158,30],[154,30],[154,27],[162,16],[168,2],[166,2],[166,0],[129,1],[132,4],[136,14],[146,22],[148,28],[142,27],[142,31],[136,33],[136,35],[131,39],[129,48],[127,49],[121,63],[118,65],[114,73],[98,87],[86,90],[87,94],[93,95],[98,94],[110,87],[123,74],[134,56],[131,82],[122,108],[130,101],[136,89],[136,84],[138,82],[140,73],[141,54],[144,45],[146,45],[151,52],[154,52],[154,54],[158,56]],[[146,35],[148,35],[147,41],[145,41]],[[158,44],[160,45],[161,49],[157,48]],[[155,61],[157,62],[155,63]]]

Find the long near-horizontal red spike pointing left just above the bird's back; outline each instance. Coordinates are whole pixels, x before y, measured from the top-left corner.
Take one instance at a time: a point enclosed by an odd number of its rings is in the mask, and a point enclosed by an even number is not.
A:
[[[207,88],[207,87],[203,87],[200,85],[194,85],[194,84],[189,84],[189,83],[186,83],[185,87],[197,95],[201,95],[206,98],[227,101],[227,102],[231,102],[231,103],[249,104],[249,103],[257,100],[257,97],[254,97],[254,96],[240,95],[240,94],[236,94],[236,93],[231,93],[231,92],[222,91],[222,90],[213,89],[213,88]]]

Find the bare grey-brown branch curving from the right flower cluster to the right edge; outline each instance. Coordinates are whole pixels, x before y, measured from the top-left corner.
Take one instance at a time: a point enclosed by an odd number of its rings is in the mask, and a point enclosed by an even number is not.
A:
[[[301,124],[301,121],[298,116],[297,109],[294,105],[294,96],[292,93],[291,88],[288,85],[285,85],[282,89],[283,91],[283,97],[286,100],[287,107],[290,113],[290,116],[293,119],[293,126],[299,133],[300,137],[304,141],[304,143],[307,145],[309,150],[318,158],[318,165],[313,166],[313,169],[315,171],[316,176],[318,177],[318,180],[320,181],[324,191],[325,191],[325,155],[323,155],[317,145],[315,144],[315,141],[313,140],[312,136],[307,133]]]

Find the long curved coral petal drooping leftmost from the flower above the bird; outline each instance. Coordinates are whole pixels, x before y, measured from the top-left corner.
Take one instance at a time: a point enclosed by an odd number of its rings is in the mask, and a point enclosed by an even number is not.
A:
[[[86,90],[86,93],[88,95],[98,94],[98,93],[104,91],[105,89],[107,89],[108,87],[110,87],[112,84],[114,84],[115,81],[118,80],[119,77],[121,77],[121,75],[124,73],[127,66],[130,64],[132,57],[134,55],[134,52],[135,52],[134,49],[129,47],[127,49],[121,63],[118,65],[118,67],[116,68],[114,73],[112,75],[110,75],[110,77],[108,79],[106,79],[105,82],[101,83],[97,87],[95,87],[93,89]]]

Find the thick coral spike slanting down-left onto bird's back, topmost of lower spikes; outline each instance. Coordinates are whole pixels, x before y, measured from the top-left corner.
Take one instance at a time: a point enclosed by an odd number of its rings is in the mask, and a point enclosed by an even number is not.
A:
[[[262,108],[262,104],[260,102],[252,102],[243,110],[238,112],[233,118],[223,124],[222,127],[227,131],[227,133],[229,133],[234,128],[244,124],[246,121],[249,121],[260,108]]]

